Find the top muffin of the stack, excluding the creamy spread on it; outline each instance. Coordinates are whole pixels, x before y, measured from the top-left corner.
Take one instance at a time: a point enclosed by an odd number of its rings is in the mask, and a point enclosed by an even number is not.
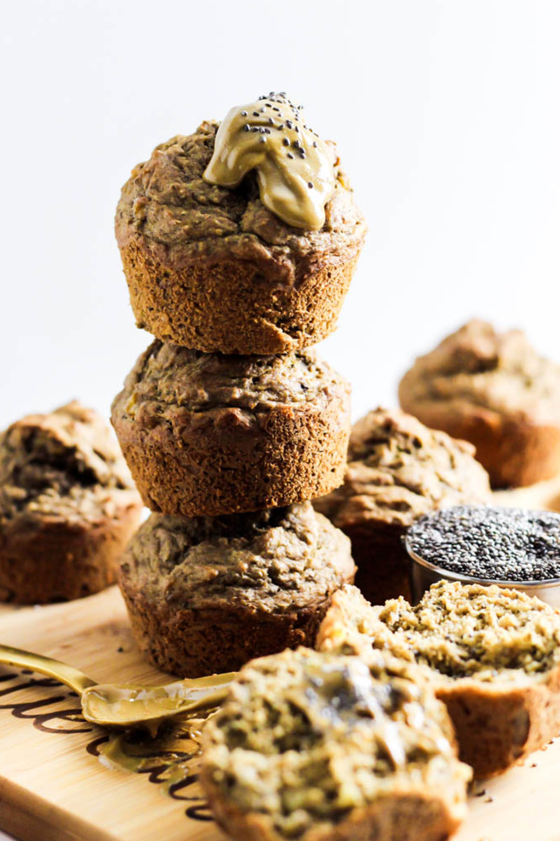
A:
[[[278,103],[259,106],[280,132]],[[116,234],[137,323],[205,352],[313,345],[336,326],[366,232],[336,148],[324,225],[301,230],[264,206],[255,172],[235,188],[204,179],[218,126],[204,122],[157,146],[123,187]]]

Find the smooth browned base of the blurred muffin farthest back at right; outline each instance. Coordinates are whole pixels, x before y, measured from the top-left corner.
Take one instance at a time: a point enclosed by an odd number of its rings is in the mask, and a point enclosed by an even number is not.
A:
[[[560,473],[560,426],[530,424],[473,408],[471,414],[449,415],[442,406],[416,405],[400,391],[400,405],[432,429],[463,438],[476,447],[476,458],[495,489],[521,488]]]

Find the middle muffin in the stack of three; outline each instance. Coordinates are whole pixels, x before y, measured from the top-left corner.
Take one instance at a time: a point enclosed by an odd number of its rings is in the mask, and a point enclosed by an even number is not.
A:
[[[151,510],[235,514],[342,482],[349,393],[312,352],[223,356],[154,341],[113,403],[113,426]]]

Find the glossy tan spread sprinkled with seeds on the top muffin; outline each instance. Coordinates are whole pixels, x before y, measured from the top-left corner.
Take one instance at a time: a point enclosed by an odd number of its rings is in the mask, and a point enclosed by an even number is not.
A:
[[[204,178],[235,188],[254,170],[265,207],[287,225],[319,230],[338,158],[334,145],[304,122],[302,107],[285,93],[271,92],[232,108],[217,130]]]

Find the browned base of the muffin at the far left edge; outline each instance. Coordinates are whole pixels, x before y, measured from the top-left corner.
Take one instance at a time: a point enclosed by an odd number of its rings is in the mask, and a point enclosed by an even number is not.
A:
[[[140,506],[117,520],[55,519],[8,526],[0,535],[0,601],[44,605],[114,584],[118,558],[139,524]]]

